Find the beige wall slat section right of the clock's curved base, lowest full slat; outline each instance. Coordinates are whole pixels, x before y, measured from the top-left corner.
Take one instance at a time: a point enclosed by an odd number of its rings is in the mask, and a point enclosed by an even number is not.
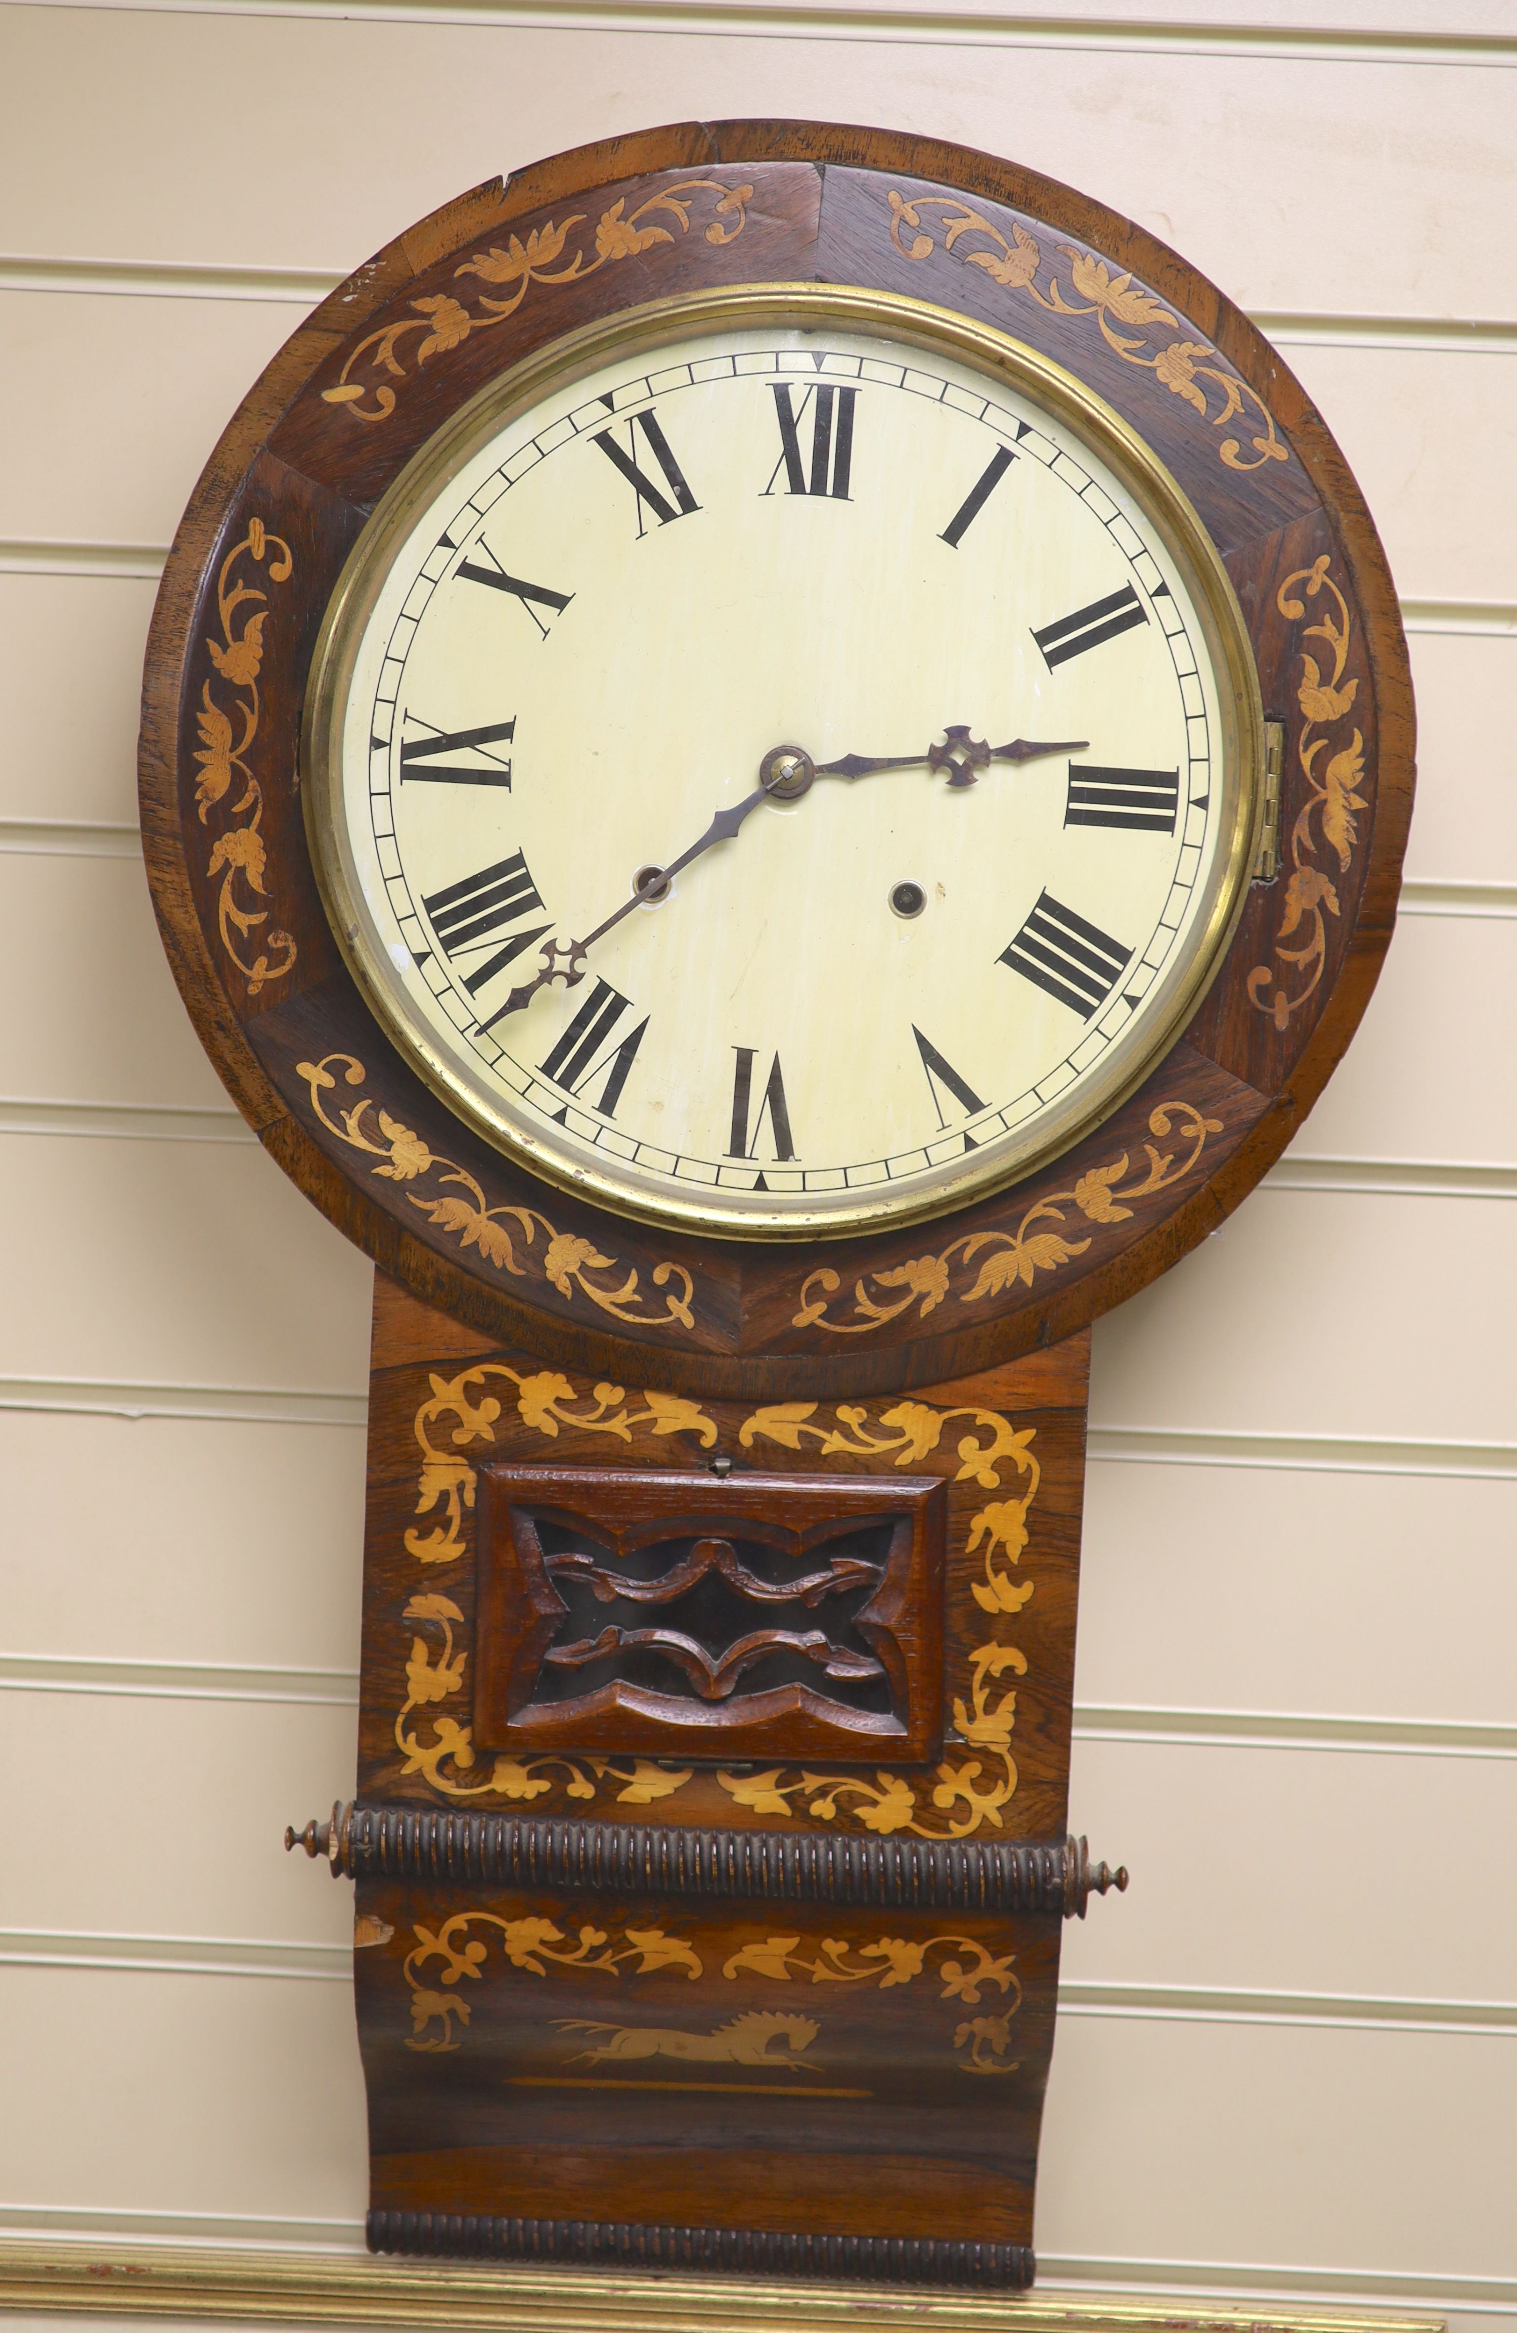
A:
[[[1412,2130],[1435,2132],[1438,2177]],[[1067,2018],[1039,2256],[1375,2263],[1428,2284],[1447,2265],[1510,2293],[1508,2132],[1505,2039]]]

